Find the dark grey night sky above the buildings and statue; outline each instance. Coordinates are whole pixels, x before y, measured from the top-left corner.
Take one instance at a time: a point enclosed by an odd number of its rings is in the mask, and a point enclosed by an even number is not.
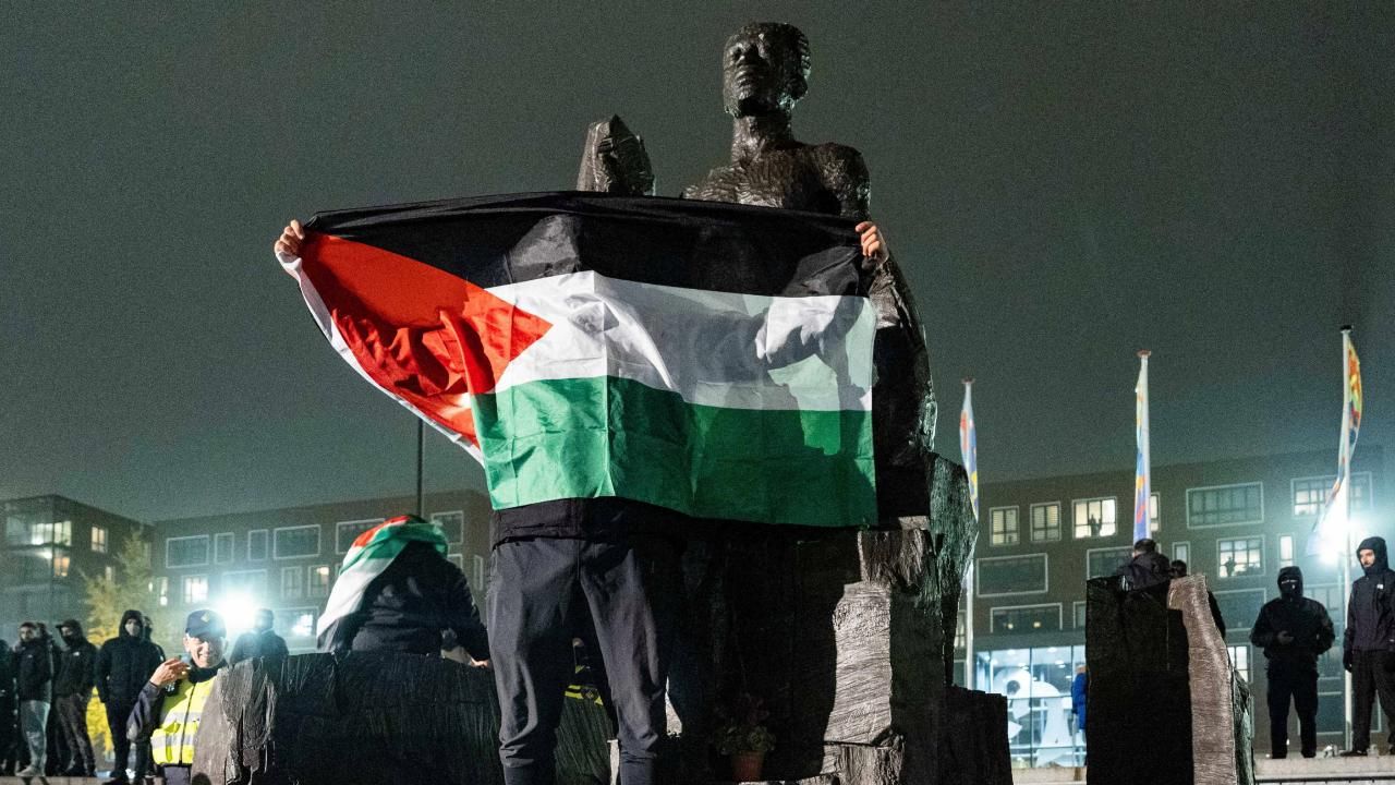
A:
[[[1362,446],[1395,444],[1389,3],[287,6],[0,8],[0,499],[410,493],[414,420],[318,334],[282,225],[571,187],[610,113],[677,196],[727,158],[721,43],[762,18],[812,42],[797,135],[872,169],[956,460],[976,379],[985,482],[1131,471],[1140,348],[1155,465],[1335,471],[1343,323]],[[483,487],[428,437],[428,487]]]

